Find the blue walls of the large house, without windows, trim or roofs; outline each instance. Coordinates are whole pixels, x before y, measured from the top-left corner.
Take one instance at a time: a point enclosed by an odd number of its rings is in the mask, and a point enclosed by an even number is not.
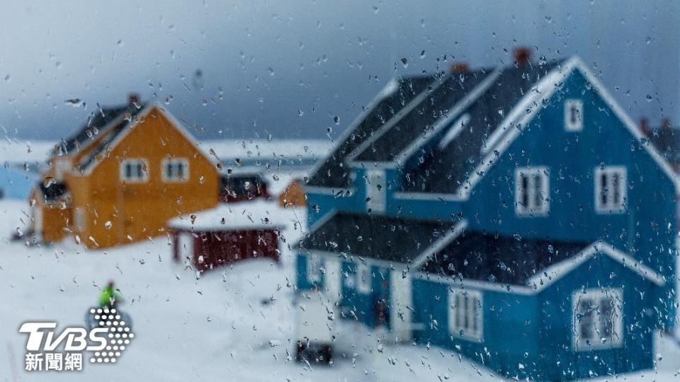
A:
[[[565,100],[572,98],[583,101],[584,126],[577,132],[568,132],[564,127]],[[620,262],[598,255],[540,293],[527,290],[531,289],[528,287],[521,287],[522,291],[511,287],[480,288],[483,338],[477,341],[448,330],[450,290],[474,289],[470,287],[474,283],[461,285],[436,277],[414,277],[414,340],[455,349],[502,374],[519,378],[571,379],[651,368],[652,332],[655,328],[676,325],[678,227],[674,182],[643,144],[616,117],[585,76],[574,70],[536,111],[519,137],[494,158],[497,162],[488,168],[467,199],[417,199],[401,194],[395,197],[404,171],[417,162],[420,155],[417,152],[405,161],[404,168],[387,168],[387,215],[426,219],[458,215],[467,220],[467,229],[503,236],[581,243],[604,240],[665,279],[663,287],[655,287]],[[546,216],[519,216],[515,206],[515,171],[536,166],[549,169],[550,212]],[[627,205],[621,213],[596,211],[594,170],[600,166],[627,169]],[[333,210],[365,212],[365,170],[354,168],[353,173],[350,196],[308,193],[310,224]],[[298,287],[312,287],[305,277],[306,255],[301,253],[297,263]],[[341,269],[348,277],[356,277],[353,262],[344,262]],[[353,286],[346,280],[341,282],[345,316],[350,319],[356,316],[369,327],[377,322],[375,301],[390,301],[389,272],[399,272],[377,265],[372,271],[372,290],[368,294],[356,290],[356,280]],[[623,346],[577,352],[572,347],[574,291],[603,287],[623,290]]]

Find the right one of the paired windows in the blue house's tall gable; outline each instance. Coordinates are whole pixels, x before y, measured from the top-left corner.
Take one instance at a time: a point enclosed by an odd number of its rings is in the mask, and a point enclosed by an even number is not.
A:
[[[628,198],[628,175],[624,166],[597,167],[595,178],[595,209],[600,213],[625,211]]]

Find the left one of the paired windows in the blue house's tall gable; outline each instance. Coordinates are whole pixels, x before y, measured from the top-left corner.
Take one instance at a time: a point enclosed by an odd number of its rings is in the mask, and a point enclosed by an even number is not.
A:
[[[523,216],[545,216],[550,212],[550,174],[547,167],[515,170],[515,210]]]

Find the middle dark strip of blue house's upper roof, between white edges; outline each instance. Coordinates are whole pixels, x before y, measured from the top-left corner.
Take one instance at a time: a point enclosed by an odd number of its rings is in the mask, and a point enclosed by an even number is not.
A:
[[[487,75],[484,69],[448,74],[440,83],[433,85],[436,87],[429,90],[429,95],[419,105],[356,156],[356,161],[395,160],[409,144],[446,117],[450,109]]]

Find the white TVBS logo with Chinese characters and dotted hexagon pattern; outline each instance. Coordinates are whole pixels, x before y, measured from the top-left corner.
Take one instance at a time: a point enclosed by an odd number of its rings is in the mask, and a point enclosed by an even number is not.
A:
[[[57,332],[57,323],[28,322],[19,332],[26,340],[26,371],[82,370],[83,352],[91,363],[115,363],[135,335],[115,309],[92,309],[94,328],[70,327]]]

